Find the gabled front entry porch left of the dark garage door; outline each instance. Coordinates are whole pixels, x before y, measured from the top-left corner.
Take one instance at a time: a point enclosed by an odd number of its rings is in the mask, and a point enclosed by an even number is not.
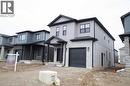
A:
[[[58,38],[58,37],[55,37],[55,36],[52,36],[51,38],[49,38],[47,41],[46,41],[46,44],[48,45],[48,54],[47,54],[47,62],[51,59],[49,58],[49,47],[53,47],[54,48],[54,57],[53,57],[53,63],[55,65],[62,65],[62,66],[65,66],[65,57],[66,57],[66,44],[67,42]]]

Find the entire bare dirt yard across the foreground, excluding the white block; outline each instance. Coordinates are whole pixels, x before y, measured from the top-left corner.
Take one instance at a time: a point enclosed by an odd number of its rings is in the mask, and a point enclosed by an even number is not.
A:
[[[39,71],[57,71],[61,86],[130,86],[130,69],[118,74],[85,68],[54,67],[42,64],[19,64],[17,72],[0,63],[0,86],[48,86],[38,80]]]

